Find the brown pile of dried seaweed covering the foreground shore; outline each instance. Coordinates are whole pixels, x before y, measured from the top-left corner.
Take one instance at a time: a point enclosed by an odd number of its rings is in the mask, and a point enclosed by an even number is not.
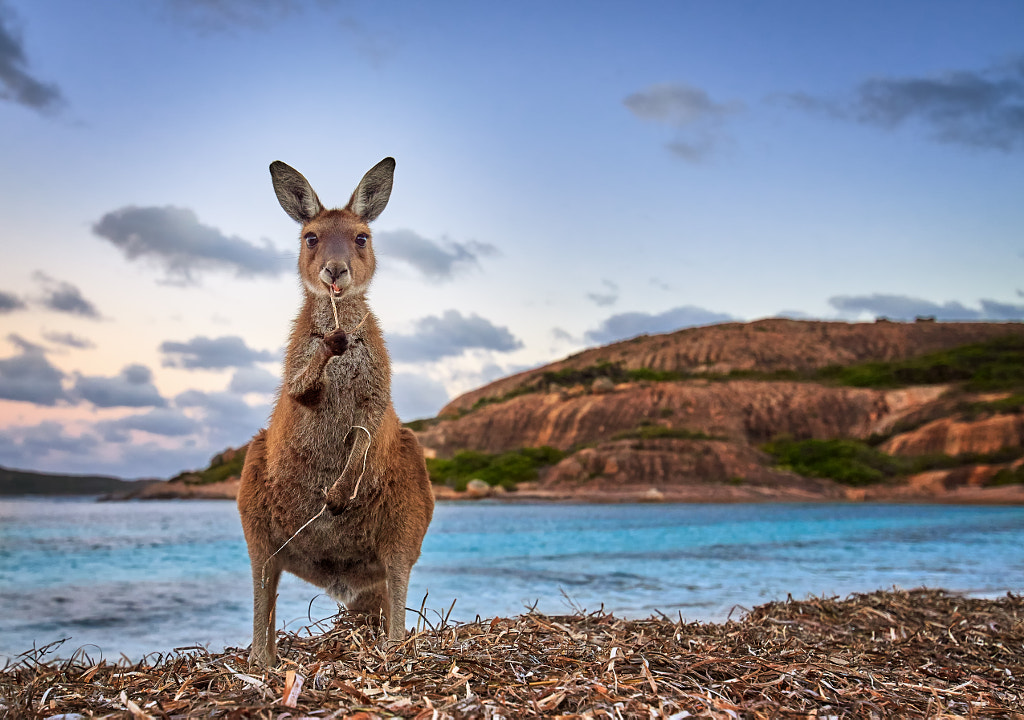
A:
[[[440,623],[385,650],[344,618],[228,650],[0,673],[17,718],[1021,717],[1024,596],[935,590],[773,602],[721,625],[603,613]]]

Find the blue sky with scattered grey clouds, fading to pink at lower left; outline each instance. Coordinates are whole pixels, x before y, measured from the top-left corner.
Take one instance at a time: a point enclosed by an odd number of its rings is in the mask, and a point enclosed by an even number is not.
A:
[[[0,465],[167,477],[265,425],[343,206],[404,420],[585,347],[1024,319],[1017,0],[0,0]]]

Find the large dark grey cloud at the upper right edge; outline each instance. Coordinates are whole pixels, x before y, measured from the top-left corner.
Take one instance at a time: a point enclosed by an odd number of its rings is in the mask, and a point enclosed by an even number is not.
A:
[[[915,124],[939,142],[1007,153],[1024,149],[1024,57],[977,72],[872,78],[844,100],[801,93],[784,99],[801,110],[886,129]]]

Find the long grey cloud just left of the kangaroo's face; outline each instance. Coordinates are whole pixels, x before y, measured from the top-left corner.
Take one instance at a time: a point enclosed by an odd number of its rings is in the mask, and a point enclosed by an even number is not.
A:
[[[204,225],[186,208],[129,206],[109,212],[92,226],[129,260],[146,258],[167,273],[172,284],[196,283],[207,270],[233,270],[239,276],[278,276],[284,256],[268,243],[255,245]]]

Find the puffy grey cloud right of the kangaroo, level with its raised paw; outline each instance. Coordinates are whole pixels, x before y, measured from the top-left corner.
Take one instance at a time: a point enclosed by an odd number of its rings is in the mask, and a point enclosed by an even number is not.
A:
[[[407,363],[440,359],[474,348],[508,352],[522,347],[508,328],[493,325],[475,313],[463,316],[458,310],[445,310],[440,317],[421,317],[416,322],[416,332],[389,335],[387,343],[392,356]]]

